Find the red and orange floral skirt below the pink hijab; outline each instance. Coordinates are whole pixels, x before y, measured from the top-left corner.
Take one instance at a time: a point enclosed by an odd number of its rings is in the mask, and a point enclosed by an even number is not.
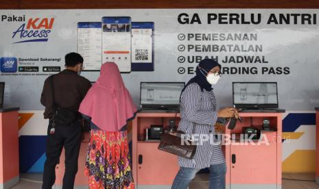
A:
[[[89,188],[134,188],[127,132],[92,129],[84,173]]]

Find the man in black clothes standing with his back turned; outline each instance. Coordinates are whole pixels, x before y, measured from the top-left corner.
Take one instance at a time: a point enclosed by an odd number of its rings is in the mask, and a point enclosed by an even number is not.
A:
[[[49,118],[43,189],[51,189],[54,185],[56,164],[60,160],[63,147],[65,150],[63,188],[73,188],[75,175],[78,172],[78,157],[82,136],[81,116],[78,110],[82,99],[91,87],[91,82],[80,76],[83,69],[83,58],[80,54],[68,53],[65,55],[65,67],[64,71],[45,80],[41,94],[41,103],[45,106],[44,116]],[[51,86],[54,86],[53,91]],[[54,99],[52,98],[53,95]],[[56,116],[55,110],[60,109],[75,115],[71,116],[74,117],[72,121],[56,121],[58,116]]]

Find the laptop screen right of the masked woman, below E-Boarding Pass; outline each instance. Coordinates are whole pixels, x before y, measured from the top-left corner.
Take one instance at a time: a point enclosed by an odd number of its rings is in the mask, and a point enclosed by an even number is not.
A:
[[[278,108],[276,82],[233,82],[233,105],[235,108]]]

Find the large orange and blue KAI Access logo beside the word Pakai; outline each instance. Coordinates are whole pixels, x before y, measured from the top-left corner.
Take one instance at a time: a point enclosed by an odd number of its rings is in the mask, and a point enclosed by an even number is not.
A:
[[[12,33],[12,38],[18,42],[46,42],[54,25],[54,18],[29,18]]]

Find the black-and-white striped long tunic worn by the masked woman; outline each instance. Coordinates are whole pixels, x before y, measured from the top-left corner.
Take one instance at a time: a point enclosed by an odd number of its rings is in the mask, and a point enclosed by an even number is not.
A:
[[[196,83],[189,84],[180,98],[180,123],[178,130],[186,134],[214,134],[214,125],[217,121],[216,99],[213,90],[201,91]],[[218,119],[218,121],[220,121]],[[200,141],[201,142],[201,141]],[[189,160],[178,157],[178,164],[187,168],[207,168],[211,164],[225,162],[220,145],[209,141],[198,145],[194,158]]]

